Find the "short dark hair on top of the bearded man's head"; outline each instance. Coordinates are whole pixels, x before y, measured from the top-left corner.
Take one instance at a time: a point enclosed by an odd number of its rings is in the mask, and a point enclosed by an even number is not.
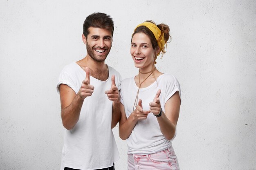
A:
[[[89,34],[89,27],[94,28],[101,28],[101,29],[107,29],[110,30],[112,33],[114,33],[114,22],[112,18],[107,15],[106,13],[92,13],[88,17],[86,17],[85,21],[83,22],[83,35],[87,38],[87,35]]]

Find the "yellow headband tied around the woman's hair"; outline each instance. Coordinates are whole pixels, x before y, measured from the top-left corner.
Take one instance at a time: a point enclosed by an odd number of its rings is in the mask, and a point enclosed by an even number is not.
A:
[[[164,45],[165,45],[165,41],[164,41],[164,35],[162,35],[161,40],[159,40],[162,31],[152,22],[143,22],[141,24],[139,24],[138,26],[136,26],[136,28],[134,29],[134,31],[139,27],[139,26],[146,26],[154,35],[155,35],[155,39],[157,40],[157,45],[160,48],[159,53],[157,54],[157,56],[160,54],[161,51],[163,51],[164,49]]]

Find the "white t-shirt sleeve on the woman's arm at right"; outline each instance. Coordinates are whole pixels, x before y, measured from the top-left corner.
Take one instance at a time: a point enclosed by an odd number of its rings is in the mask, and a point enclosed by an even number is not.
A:
[[[164,98],[164,104],[170,99],[176,91],[179,92],[180,101],[181,101],[181,90],[180,90],[180,83],[176,79],[176,77],[170,75],[171,77],[167,79],[165,84],[166,89],[166,96]]]

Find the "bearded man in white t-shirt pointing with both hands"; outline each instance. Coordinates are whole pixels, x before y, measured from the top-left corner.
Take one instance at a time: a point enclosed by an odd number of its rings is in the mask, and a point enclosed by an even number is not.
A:
[[[113,32],[109,15],[89,15],[82,35],[87,55],[65,66],[59,76],[61,118],[66,128],[61,170],[115,170],[119,154],[112,128],[121,116],[121,76],[105,64]]]

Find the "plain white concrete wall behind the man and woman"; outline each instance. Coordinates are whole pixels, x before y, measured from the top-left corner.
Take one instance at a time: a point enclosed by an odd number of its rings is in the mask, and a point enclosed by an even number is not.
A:
[[[255,170],[255,0],[1,0],[0,169],[58,170],[63,144],[58,75],[86,55],[83,21],[115,22],[106,63],[137,74],[130,38],[144,20],[170,26],[157,68],[175,75],[182,106],[173,141],[181,170]],[[126,143],[114,130],[126,170]]]

